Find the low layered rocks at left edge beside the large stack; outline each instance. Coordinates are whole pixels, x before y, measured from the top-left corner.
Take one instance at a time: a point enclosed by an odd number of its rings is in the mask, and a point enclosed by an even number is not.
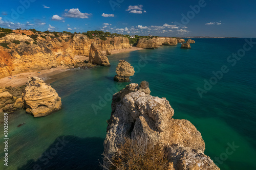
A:
[[[22,109],[22,92],[25,86],[11,87],[6,86],[0,88],[0,113],[13,113]]]

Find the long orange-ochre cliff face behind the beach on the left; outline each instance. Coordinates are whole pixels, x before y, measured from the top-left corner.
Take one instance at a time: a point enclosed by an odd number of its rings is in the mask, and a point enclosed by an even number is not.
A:
[[[26,34],[31,35],[31,32]],[[75,66],[83,62],[77,56],[89,57],[92,42],[99,46],[100,51],[131,47],[129,39],[124,37],[107,38],[103,41],[99,38],[89,39],[82,34],[28,35],[12,33],[0,38],[0,43],[5,46],[0,46],[0,78],[58,65]]]

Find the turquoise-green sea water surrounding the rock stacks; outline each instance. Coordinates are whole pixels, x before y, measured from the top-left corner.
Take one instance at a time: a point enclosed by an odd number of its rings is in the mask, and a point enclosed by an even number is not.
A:
[[[170,102],[174,118],[196,126],[206,144],[205,154],[221,169],[256,169],[256,47],[231,66],[227,58],[243,47],[244,38],[195,40],[189,50],[178,44],[115,54],[109,56],[111,67],[51,77],[48,82],[54,81],[51,86],[61,97],[62,109],[40,118],[24,110],[10,114],[9,166],[1,163],[0,169],[99,169],[111,96],[129,84],[113,81],[120,59],[135,67],[131,83],[148,81],[152,95]],[[223,65],[229,72],[200,98],[197,88]],[[237,147],[232,151],[230,144]]]

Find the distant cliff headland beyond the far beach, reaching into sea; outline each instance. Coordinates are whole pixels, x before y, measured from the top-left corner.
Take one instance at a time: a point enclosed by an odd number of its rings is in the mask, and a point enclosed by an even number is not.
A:
[[[151,39],[141,38],[136,47],[154,49],[162,45],[177,45],[177,38],[154,37]]]

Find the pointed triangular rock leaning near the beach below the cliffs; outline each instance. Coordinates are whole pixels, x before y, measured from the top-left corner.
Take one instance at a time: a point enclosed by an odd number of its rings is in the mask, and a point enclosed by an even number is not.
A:
[[[110,62],[108,57],[106,57],[98,48],[98,45],[93,42],[91,44],[91,50],[89,54],[89,62],[102,66],[109,66]]]

